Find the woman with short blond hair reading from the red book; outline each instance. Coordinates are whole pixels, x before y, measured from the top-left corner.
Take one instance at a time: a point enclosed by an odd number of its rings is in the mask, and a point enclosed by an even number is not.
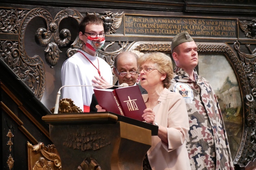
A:
[[[142,117],[158,125],[152,146],[143,161],[143,170],[190,170],[186,136],[189,130],[186,104],[180,94],[168,90],[173,78],[171,58],[160,52],[146,53],[138,59],[142,95],[146,105]],[[98,112],[105,112],[97,105]]]

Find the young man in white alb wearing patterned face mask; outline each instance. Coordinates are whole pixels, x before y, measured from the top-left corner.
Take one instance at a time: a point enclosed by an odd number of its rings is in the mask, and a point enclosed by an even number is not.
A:
[[[112,70],[109,64],[97,54],[97,51],[104,45],[104,37],[103,21],[100,18],[94,15],[83,18],[79,25],[79,38],[83,45],[76,54],[63,63],[61,68],[62,86],[113,84]],[[89,112],[94,88],[96,87],[64,87],[62,88],[62,98],[72,99],[83,112]],[[109,86],[104,88],[109,88]]]

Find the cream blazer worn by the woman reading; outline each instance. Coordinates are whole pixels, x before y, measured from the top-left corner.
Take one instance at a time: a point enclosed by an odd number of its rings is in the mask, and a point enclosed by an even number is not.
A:
[[[144,102],[148,95],[142,95]],[[153,108],[155,122],[167,129],[168,143],[152,136],[152,146],[147,151],[152,170],[190,170],[186,137],[189,130],[186,103],[180,94],[163,90]]]

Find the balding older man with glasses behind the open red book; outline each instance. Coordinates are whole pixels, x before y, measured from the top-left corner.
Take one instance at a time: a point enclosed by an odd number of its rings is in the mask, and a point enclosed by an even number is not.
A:
[[[138,55],[132,53],[130,51],[120,52],[116,55],[114,59],[114,68],[113,72],[116,75],[117,82],[116,86],[127,83],[129,86],[136,86],[137,78],[139,76],[138,65],[137,65]],[[147,91],[142,88],[140,85],[139,89],[141,94],[147,94]],[[110,89],[116,89],[118,87],[111,87]],[[93,94],[91,104],[90,104],[90,112],[97,112],[97,108],[95,107],[98,104],[98,101]]]

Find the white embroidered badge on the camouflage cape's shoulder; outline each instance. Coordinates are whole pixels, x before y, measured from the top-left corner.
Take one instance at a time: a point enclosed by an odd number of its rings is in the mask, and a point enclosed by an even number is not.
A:
[[[192,103],[194,99],[193,90],[187,84],[178,82],[174,85],[173,91],[179,93],[186,103]]]

